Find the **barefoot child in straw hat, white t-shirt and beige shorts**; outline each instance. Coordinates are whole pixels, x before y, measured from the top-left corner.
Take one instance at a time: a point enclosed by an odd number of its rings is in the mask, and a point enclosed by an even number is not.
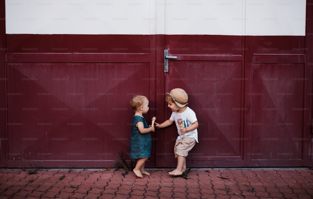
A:
[[[179,176],[186,170],[186,157],[188,152],[198,142],[198,120],[196,113],[192,111],[188,105],[188,95],[181,88],[174,88],[170,93],[167,93],[166,101],[172,111],[171,117],[158,124],[155,122],[156,128],[164,128],[170,126],[173,122],[176,123],[178,137],[176,139],[174,154],[177,158],[177,167],[174,171],[168,172],[170,175]],[[177,119],[182,119],[183,127],[178,126]]]

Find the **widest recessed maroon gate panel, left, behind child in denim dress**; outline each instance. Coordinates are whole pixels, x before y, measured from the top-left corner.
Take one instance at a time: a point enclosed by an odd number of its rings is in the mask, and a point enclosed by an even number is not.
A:
[[[110,167],[128,153],[129,100],[149,97],[148,63],[10,62],[7,71],[11,166]]]

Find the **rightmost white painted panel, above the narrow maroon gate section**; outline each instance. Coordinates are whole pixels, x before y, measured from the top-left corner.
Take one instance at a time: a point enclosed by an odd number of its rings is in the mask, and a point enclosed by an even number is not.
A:
[[[246,0],[245,35],[305,36],[305,0]]]

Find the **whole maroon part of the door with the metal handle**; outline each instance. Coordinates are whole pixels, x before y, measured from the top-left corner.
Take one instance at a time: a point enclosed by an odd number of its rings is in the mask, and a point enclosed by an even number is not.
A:
[[[189,153],[186,163],[189,167],[213,167],[217,164],[231,166],[236,161],[239,163],[243,160],[245,142],[241,109],[244,103],[242,37],[165,37],[166,49],[177,59],[169,60],[168,72],[164,73],[163,92],[170,92],[176,87],[183,88],[188,94],[188,106],[195,111],[199,122],[199,143]],[[165,107],[165,120],[171,113]],[[173,125],[162,131],[164,134],[160,136],[164,136],[164,142],[156,147],[157,151],[164,150],[164,154],[156,156],[156,163],[159,167],[170,167],[176,165],[173,148],[177,130]],[[162,161],[158,158],[162,158]]]

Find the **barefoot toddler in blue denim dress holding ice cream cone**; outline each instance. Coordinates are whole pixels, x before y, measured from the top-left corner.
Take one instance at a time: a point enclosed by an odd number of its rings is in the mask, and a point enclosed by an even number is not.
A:
[[[138,159],[133,172],[137,177],[150,175],[145,171],[145,162],[151,157],[151,131],[154,126],[148,125],[142,114],[149,111],[149,100],[145,96],[135,95],[131,99],[131,108],[134,110],[133,122],[131,124],[131,141],[129,145],[129,157]]]

